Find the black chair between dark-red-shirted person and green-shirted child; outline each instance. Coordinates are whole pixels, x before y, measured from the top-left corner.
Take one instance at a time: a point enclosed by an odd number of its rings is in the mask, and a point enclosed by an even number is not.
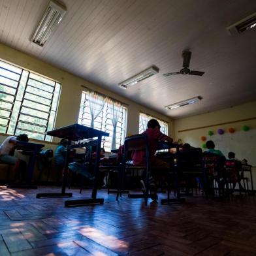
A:
[[[179,161],[179,180],[185,180],[185,192],[188,195],[189,189],[193,195],[193,178],[204,180],[202,165],[202,150],[200,148],[191,148],[177,152]],[[197,189],[197,186],[195,186]]]

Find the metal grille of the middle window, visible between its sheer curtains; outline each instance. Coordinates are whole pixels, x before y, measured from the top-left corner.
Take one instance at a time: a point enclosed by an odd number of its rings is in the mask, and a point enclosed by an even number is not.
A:
[[[125,131],[126,131],[126,115],[127,108],[121,106],[120,108],[120,117],[118,119],[118,125],[116,127],[116,148],[118,148],[125,139]],[[89,103],[88,103],[88,94],[83,91],[82,99],[80,104],[80,112],[78,123],[86,126],[91,125],[91,114],[89,111]],[[111,144],[112,144],[112,136],[113,136],[113,125],[112,125],[112,114],[110,110],[110,104],[105,103],[103,110],[94,120],[94,128],[109,133],[110,136],[103,137],[102,146],[106,152],[110,152]]]

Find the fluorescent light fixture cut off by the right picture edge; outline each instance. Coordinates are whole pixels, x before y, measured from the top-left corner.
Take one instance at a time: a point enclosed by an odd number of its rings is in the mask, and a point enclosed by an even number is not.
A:
[[[239,35],[246,30],[253,29],[253,27],[256,28],[256,12],[240,20],[240,22],[232,24],[227,29],[231,35]]]

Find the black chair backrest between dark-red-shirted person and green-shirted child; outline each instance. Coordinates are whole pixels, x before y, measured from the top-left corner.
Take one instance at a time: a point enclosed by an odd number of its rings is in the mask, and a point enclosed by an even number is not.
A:
[[[195,172],[202,170],[202,150],[191,148],[177,152],[180,170],[183,172]]]

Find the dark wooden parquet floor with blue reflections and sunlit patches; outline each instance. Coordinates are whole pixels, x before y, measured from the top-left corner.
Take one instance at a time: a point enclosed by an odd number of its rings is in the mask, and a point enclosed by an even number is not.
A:
[[[104,205],[65,208],[67,199],[36,199],[39,192],[59,188],[0,187],[1,256],[256,255],[255,197],[144,206],[101,190]],[[72,192],[74,199],[90,195]]]

